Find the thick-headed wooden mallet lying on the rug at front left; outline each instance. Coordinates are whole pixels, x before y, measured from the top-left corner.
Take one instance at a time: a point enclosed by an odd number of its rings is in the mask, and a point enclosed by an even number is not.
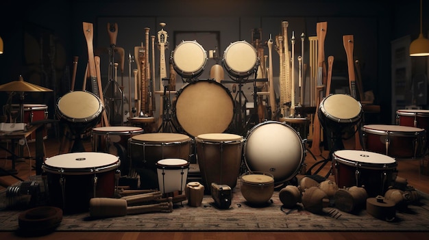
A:
[[[141,213],[171,213],[173,211],[173,202],[171,198],[168,202],[156,204],[147,204],[140,206],[128,206],[127,200],[115,198],[91,198],[89,201],[90,217],[121,217],[127,214]]]

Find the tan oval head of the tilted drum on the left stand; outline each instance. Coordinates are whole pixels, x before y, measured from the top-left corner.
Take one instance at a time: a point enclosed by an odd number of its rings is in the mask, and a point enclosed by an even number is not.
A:
[[[90,122],[103,111],[100,98],[86,91],[66,93],[58,99],[57,107],[59,114],[71,122]]]

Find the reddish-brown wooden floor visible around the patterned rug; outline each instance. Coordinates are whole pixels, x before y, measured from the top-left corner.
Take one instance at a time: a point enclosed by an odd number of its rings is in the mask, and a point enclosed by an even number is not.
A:
[[[34,143],[29,143],[28,149],[24,150],[24,156],[34,156]],[[84,141],[84,146],[87,151],[90,151],[90,140]],[[347,146],[347,145],[346,145]],[[53,157],[60,154],[60,141],[58,139],[48,138],[45,140],[46,157]],[[0,150],[0,167],[9,170],[11,161],[4,159],[8,154],[4,150]],[[317,159],[312,155],[306,155],[307,169],[314,163],[327,157],[328,152],[323,151]],[[397,159],[398,176],[406,178],[408,184],[429,194],[429,176],[420,173],[421,159]],[[28,179],[29,176],[35,174],[34,169],[30,168],[30,164],[34,165],[34,160],[30,163],[29,160],[21,160],[16,163],[17,176]],[[330,170],[328,164],[320,175],[325,176]],[[330,179],[334,180],[331,175]],[[12,176],[1,176],[0,189],[5,189],[6,186],[16,183],[17,179]],[[429,222],[429,219],[428,219]],[[428,239],[429,232],[53,232],[42,237],[32,237],[32,239],[62,239],[62,240],[90,240],[90,239],[168,239],[168,240],[193,240],[193,239],[223,239],[223,240],[280,240],[280,239]],[[14,232],[1,231],[0,239],[22,239]]]

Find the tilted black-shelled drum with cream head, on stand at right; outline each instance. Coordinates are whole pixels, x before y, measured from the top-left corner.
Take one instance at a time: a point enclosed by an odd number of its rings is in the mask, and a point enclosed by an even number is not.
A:
[[[355,126],[362,116],[362,105],[347,94],[330,94],[319,105],[318,116],[323,127],[335,131]]]

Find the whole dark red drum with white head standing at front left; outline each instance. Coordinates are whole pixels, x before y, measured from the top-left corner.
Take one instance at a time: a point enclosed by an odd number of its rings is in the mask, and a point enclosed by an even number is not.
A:
[[[42,164],[47,172],[49,200],[65,213],[88,211],[90,198],[113,198],[117,185],[118,157],[103,152],[72,152],[49,157]]]

